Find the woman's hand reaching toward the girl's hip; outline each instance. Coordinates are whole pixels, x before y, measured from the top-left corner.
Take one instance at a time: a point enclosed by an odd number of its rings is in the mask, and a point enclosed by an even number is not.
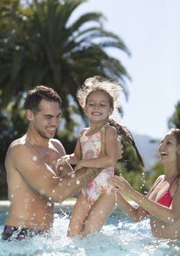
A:
[[[115,191],[126,196],[129,196],[133,190],[127,180],[125,180],[125,178],[122,176],[122,173],[120,173],[119,176],[111,176],[110,183],[115,186]]]

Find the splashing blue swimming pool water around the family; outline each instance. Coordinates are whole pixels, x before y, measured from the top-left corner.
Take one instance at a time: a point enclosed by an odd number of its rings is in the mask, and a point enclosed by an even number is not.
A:
[[[0,212],[2,232],[8,212]],[[134,223],[115,210],[100,233],[93,233],[80,240],[66,236],[69,210],[61,208],[55,213],[53,230],[48,236],[34,236],[22,241],[0,240],[0,256],[132,256],[180,255],[179,240],[154,238],[150,233],[149,219]]]

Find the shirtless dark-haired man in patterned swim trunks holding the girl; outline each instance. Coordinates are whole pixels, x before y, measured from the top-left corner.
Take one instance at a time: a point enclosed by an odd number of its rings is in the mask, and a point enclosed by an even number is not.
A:
[[[49,87],[37,86],[26,96],[27,133],[12,142],[5,158],[9,187],[9,215],[3,240],[17,240],[51,229],[54,202],[62,203],[90,183],[102,169],[63,170],[57,159],[65,155],[53,139],[61,119],[62,101]],[[120,151],[122,148],[120,147]]]

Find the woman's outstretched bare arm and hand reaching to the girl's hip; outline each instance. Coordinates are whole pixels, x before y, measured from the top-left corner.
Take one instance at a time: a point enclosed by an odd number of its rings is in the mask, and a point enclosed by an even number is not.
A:
[[[180,218],[180,208],[179,208],[179,197],[180,197],[180,180],[178,180],[178,188],[173,197],[171,208],[168,208],[164,205],[158,204],[155,201],[150,200],[149,198],[143,196],[136,190],[134,190],[127,180],[122,176],[112,176],[111,183],[117,187],[115,190],[118,193],[122,193],[127,197],[131,198],[141,207],[150,212],[151,215],[156,216],[158,219],[172,225]]]

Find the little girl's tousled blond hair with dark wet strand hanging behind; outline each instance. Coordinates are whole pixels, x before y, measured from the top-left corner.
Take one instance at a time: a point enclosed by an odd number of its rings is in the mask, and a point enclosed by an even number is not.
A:
[[[108,80],[101,76],[93,76],[85,80],[83,86],[80,87],[77,91],[76,97],[79,101],[79,105],[81,105],[82,108],[85,108],[90,93],[92,93],[93,91],[104,91],[104,93],[108,94],[109,104],[111,108],[119,108],[120,103],[118,97],[120,90],[122,90],[121,84],[112,80]],[[118,135],[122,137],[122,144],[124,148],[125,142],[132,145],[132,147],[136,151],[136,155],[137,158],[139,159],[140,164],[144,168],[143,159],[139,154],[139,151],[136,147],[136,143],[129,130],[122,124],[116,122],[113,118],[108,118],[107,121],[111,126],[115,126]]]

